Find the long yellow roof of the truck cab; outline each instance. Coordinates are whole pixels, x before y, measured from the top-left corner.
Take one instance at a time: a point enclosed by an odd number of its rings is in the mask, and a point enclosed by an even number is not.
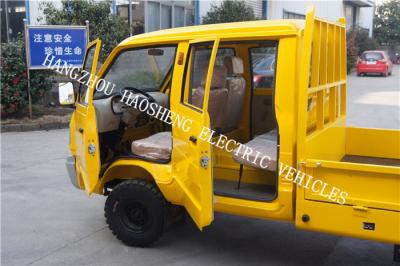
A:
[[[277,19],[257,20],[246,22],[232,22],[187,26],[172,29],[153,31],[139,34],[125,39],[120,45],[132,45],[151,42],[173,42],[193,40],[199,38],[229,39],[254,36],[282,36],[296,35],[304,29],[304,20]]]

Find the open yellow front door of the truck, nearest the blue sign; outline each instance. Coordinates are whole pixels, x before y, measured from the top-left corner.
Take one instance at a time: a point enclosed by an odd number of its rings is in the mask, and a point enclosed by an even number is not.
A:
[[[76,172],[78,180],[83,181],[83,186],[89,195],[97,185],[100,171],[100,147],[96,111],[93,105],[94,77],[100,49],[101,41],[98,39],[89,43],[86,49],[82,68],[83,78],[81,77],[82,82],[75,104]]]

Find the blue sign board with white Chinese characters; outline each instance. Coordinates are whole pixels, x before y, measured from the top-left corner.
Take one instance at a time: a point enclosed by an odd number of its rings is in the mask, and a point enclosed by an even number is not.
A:
[[[28,67],[43,69],[47,55],[82,66],[87,45],[85,26],[27,26]]]

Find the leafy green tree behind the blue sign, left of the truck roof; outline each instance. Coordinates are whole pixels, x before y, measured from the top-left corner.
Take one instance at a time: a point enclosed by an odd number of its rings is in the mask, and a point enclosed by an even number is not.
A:
[[[62,0],[62,7],[56,8],[51,2],[41,6],[44,19],[50,25],[85,25],[89,20],[89,39],[101,39],[103,62],[112,49],[129,36],[129,25],[118,16],[111,14],[111,1]]]

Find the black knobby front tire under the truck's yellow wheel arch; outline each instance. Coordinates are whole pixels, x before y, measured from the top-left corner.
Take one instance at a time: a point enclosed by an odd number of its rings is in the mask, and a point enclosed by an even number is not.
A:
[[[146,180],[127,180],[113,188],[104,207],[112,233],[128,246],[149,246],[164,231],[166,201]]]

